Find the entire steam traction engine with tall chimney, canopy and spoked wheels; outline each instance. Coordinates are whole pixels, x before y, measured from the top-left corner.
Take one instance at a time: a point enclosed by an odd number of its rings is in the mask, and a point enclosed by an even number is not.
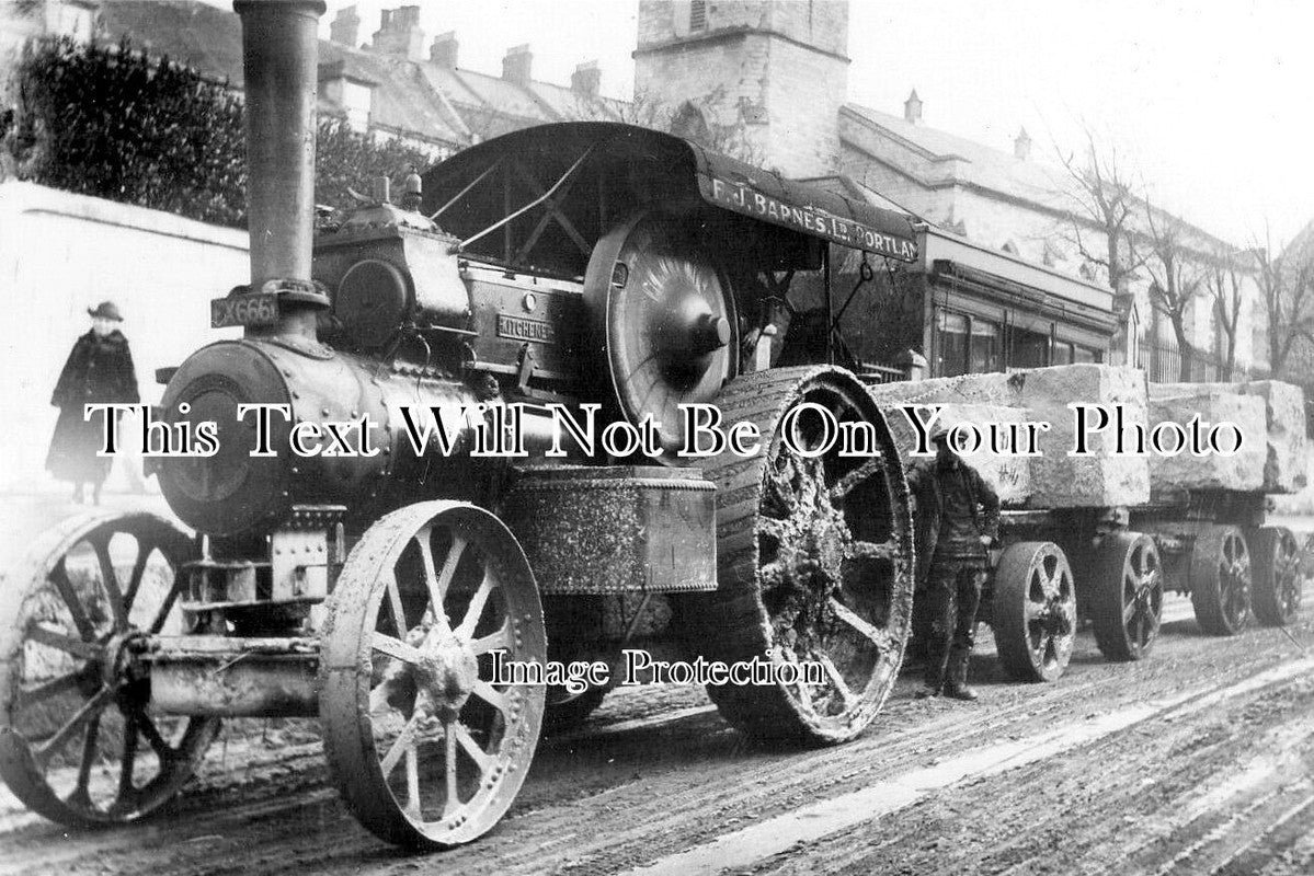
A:
[[[218,424],[215,456],[158,462],[197,535],[100,512],[7,575],[14,793],[64,823],[130,821],[187,781],[221,717],[318,716],[365,826],[468,842],[510,806],[545,716],[604,693],[494,683],[494,654],[606,659],[641,641],[817,662],[823,684],[711,695],[758,735],[862,732],[909,626],[907,487],[829,334],[813,364],[770,366],[773,301],[795,274],[828,294],[830,244],[913,259],[907,219],[674,137],[572,123],[470,148],[428,175],[420,210],[380,198],[313,242],[323,4],[235,5],[252,276],[214,324],[244,336],[184,361],[160,411]],[[512,402],[527,456],[472,456]],[[652,415],[665,452],[551,458],[549,402],[598,405],[599,427]],[[690,402],[756,423],[762,452],[677,457]],[[267,454],[244,405],[283,406]],[[464,407],[449,454],[413,450],[406,406]],[[365,416],[373,456],[289,452],[293,429]],[[870,424],[880,454],[813,453],[832,418]]]

